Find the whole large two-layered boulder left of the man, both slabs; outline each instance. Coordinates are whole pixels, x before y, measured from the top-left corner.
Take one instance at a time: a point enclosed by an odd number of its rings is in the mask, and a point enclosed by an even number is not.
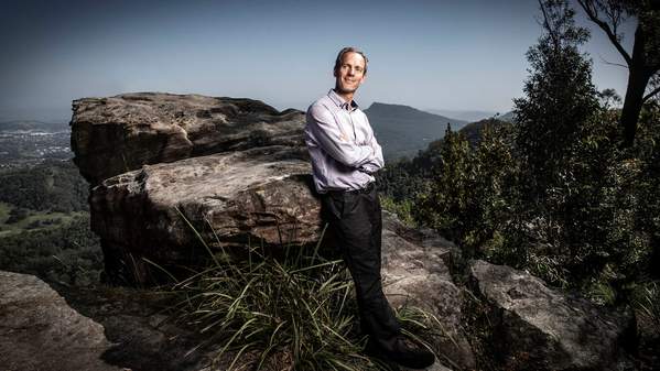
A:
[[[151,281],[143,258],[171,268],[208,257],[195,230],[212,248],[318,239],[303,112],[156,92],[73,108],[74,161],[94,186],[91,229],[111,282]]]

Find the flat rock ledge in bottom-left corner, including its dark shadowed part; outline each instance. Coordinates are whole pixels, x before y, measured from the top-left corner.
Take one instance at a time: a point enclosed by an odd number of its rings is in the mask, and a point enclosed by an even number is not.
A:
[[[0,287],[2,371],[210,370],[213,349],[162,313],[170,305],[162,294],[74,286],[57,293],[33,275],[2,271]],[[213,371],[227,370],[231,356]]]

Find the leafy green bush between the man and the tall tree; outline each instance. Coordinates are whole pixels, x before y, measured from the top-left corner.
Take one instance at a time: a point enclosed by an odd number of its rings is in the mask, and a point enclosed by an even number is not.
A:
[[[467,258],[482,258],[484,249],[498,245],[497,231],[508,218],[505,194],[517,168],[508,131],[508,126],[486,123],[473,148],[463,132],[447,127],[433,175],[412,208],[419,223],[461,244]]]

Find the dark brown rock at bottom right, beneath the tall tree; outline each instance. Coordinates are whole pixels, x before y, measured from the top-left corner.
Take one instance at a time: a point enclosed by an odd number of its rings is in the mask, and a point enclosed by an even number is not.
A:
[[[562,295],[509,266],[476,261],[479,293],[491,304],[493,346],[507,370],[617,370],[630,318]]]

